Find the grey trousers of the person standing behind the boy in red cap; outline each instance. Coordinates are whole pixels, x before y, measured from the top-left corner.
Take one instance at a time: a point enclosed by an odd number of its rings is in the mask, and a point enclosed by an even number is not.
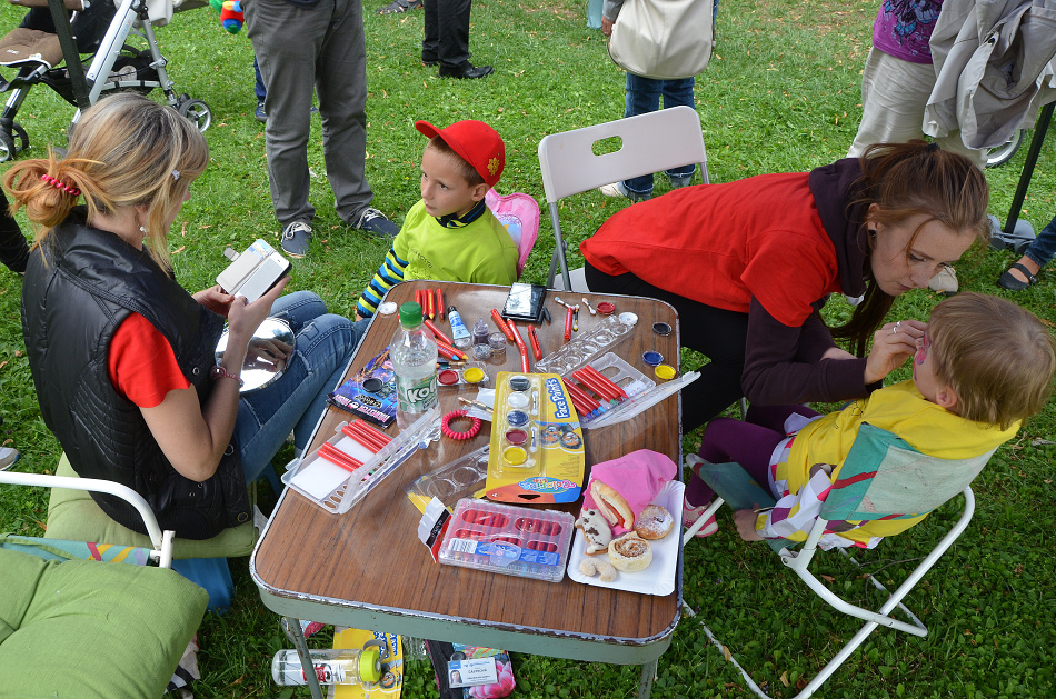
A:
[[[355,224],[373,192],[367,157],[367,46],[362,0],[319,0],[303,8],[286,0],[245,4],[246,27],[268,89],[268,179],[275,216],[283,227],[311,222],[308,138],[312,88],[322,117],[322,152],[333,204]]]

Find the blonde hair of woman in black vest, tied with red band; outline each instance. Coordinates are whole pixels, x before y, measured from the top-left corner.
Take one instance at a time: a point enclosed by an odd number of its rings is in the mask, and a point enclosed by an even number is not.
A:
[[[26,208],[37,244],[70,214],[78,190],[84,194],[89,223],[100,212],[147,207],[150,234],[145,246],[168,271],[166,218],[208,162],[209,146],[195,124],[171,107],[124,92],[84,111],[66,158],[49,150],[48,158],[17,162],[3,186],[13,199],[11,211]]]

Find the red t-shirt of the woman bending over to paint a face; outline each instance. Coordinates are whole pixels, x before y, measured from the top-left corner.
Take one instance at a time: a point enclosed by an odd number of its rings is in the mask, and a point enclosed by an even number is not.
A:
[[[619,211],[579,249],[607,274],[631,272],[671,293],[748,312],[751,297],[796,328],[839,292],[836,248],[807,172],[678,189]]]

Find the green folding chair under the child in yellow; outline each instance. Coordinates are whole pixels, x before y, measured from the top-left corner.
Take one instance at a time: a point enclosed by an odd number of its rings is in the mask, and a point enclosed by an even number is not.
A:
[[[810,697],[817,691],[879,626],[914,636],[927,636],[927,627],[901,603],[901,600],[967,528],[975,512],[975,496],[969,483],[983,470],[994,451],[996,449],[974,459],[936,459],[920,453],[895,435],[865,423],[858,431],[837,480],[825,497],[820,516],[801,548],[799,550],[794,548],[798,546],[798,542],[767,539],[767,543],[778,553],[781,562],[799,576],[818,597],[837,611],[866,622],[821,671],[796,695],[797,699]],[[715,489],[716,498],[704,515],[686,531],[684,543],[693,540],[694,535],[707,522],[708,518],[715,515],[723,502],[728,503],[734,510],[775,505],[770,492],[756,483],[737,463],[701,463],[699,473],[705,482]],[[818,551],[818,542],[830,521],[919,517],[953,499],[957,493],[962,493],[965,499],[964,511],[959,519],[894,592],[889,592],[876,576],[868,577],[878,590],[889,595],[879,609],[874,611],[847,602],[809,570],[810,561]],[[836,550],[857,565],[845,549]],[[908,618],[908,622],[891,616],[896,609]],[[725,656],[725,646],[703,622],[701,627]],[[740,670],[749,689],[759,697],[767,697],[735,657],[730,655],[729,661]]]

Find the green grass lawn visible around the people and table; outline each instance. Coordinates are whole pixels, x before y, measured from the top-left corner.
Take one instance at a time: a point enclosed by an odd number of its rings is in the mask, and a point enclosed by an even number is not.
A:
[[[422,12],[379,17],[387,0],[365,9],[368,50],[367,176],[375,206],[395,220],[418,200],[418,159],[425,139],[417,119],[445,126],[481,119],[505,138],[507,164],[498,189],[525,191],[542,202],[537,146],[548,134],[622,116],[624,74],[608,61],[600,32],[586,27],[586,2],[572,0],[478,0],[472,12],[474,61],[495,66],[484,80],[437,78],[418,61]],[[801,171],[846,153],[860,116],[860,73],[868,52],[876,0],[724,0],[718,44],[697,80],[697,107],[708,148],[711,181],[764,172]],[[23,10],[0,8],[11,28]],[[209,9],[178,14],[158,31],[180,92],[213,110],[207,132],[212,163],[192,189],[170,233],[177,277],[185,287],[209,286],[230,244],[245,249],[261,237],[278,242],[265,163],[265,136],[252,119],[252,52],[245,34],[228,36]],[[296,41],[296,37],[290,38]],[[38,157],[48,143],[64,144],[73,110],[44,88],[29,96],[19,122]],[[325,177],[321,132],[313,120],[309,159],[315,174],[316,237],[309,257],[295,262],[290,290],[311,289],[336,312],[351,313],[358,293],[377,269],[388,243],[348,229],[332,208]],[[1043,149],[1023,217],[1040,229],[1056,213],[1054,139]],[[987,172],[990,212],[1008,212],[1026,148],[1007,166]],[[660,178],[663,180],[663,178]],[[658,192],[666,188],[658,180]],[[570,241],[569,266],[581,264],[578,241],[624,201],[588,193],[565,202],[561,219]],[[24,226],[26,221],[22,220]],[[28,231],[28,226],[26,227]],[[642,234],[648,234],[644,232]],[[548,222],[525,277],[542,282],[554,242]],[[957,266],[962,289],[1004,294],[997,276],[1012,252],[969,252]],[[18,468],[53,470],[59,446],[41,420],[19,321],[21,279],[0,269],[0,441],[23,453]],[[1056,317],[1056,279],[1015,296],[1047,322]],[[940,300],[928,291],[899,299],[893,318],[927,318]],[[834,301],[838,317],[846,306]],[[699,359],[683,357],[684,369]],[[907,378],[901,370],[894,379]],[[1056,409],[1032,420],[998,450],[975,482],[975,520],[953,551],[909,597],[927,623],[927,638],[877,631],[824,687],[824,697],[1053,697],[1056,696],[1056,518],[1053,516]],[[685,439],[695,451],[699,435]],[[277,459],[277,463],[282,459]],[[959,500],[959,499],[958,499]],[[956,503],[955,503],[956,505]],[[885,542],[861,558],[869,571],[899,580],[898,561],[923,556],[948,506],[929,522]],[[40,535],[46,526],[42,492],[0,489],[0,531]],[[801,677],[813,677],[855,626],[839,618],[783,570],[766,547],[736,537],[728,512],[720,532],[686,548],[685,599],[718,638],[774,696],[788,697]],[[829,557],[826,557],[828,559]],[[831,585],[855,599],[873,598],[861,571],[831,565]],[[247,559],[232,561],[238,593],[223,616],[201,629],[202,680],[197,696],[289,697],[305,689],[277,688],[270,659],[287,646],[278,619],[260,602]],[[2,576],[2,573],[0,573]],[[571,699],[632,697],[638,668],[515,655],[517,697]],[[405,696],[436,696],[431,668],[411,663]],[[660,658],[654,696],[747,696],[739,673],[708,643],[693,619],[684,619]]]

